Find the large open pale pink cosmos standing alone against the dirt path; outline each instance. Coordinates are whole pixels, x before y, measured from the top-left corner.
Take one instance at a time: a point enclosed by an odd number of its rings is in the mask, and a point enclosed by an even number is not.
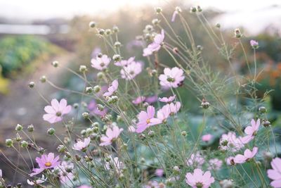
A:
[[[63,115],[70,113],[71,106],[67,106],[67,101],[61,99],[58,102],[57,99],[52,99],[51,106],[45,106],[44,111],[46,114],[43,115],[43,119],[49,123],[57,123],[63,120]]]

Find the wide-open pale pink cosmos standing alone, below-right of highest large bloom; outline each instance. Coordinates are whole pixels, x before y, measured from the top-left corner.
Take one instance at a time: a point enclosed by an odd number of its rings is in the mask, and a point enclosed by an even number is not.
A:
[[[164,68],[164,74],[159,75],[160,85],[163,87],[178,87],[184,80],[181,68]]]

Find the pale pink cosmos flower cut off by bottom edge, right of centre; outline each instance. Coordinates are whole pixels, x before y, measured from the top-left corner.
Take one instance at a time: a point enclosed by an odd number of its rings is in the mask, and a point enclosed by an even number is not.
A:
[[[189,184],[192,188],[202,187],[208,188],[211,186],[212,183],[215,182],[214,177],[211,177],[211,173],[207,171],[203,173],[200,168],[196,168],[192,173],[187,173],[185,175],[185,181]]]

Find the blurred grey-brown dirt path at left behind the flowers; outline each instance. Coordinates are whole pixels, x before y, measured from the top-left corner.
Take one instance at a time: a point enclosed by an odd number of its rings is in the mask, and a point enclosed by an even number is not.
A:
[[[43,120],[44,106],[46,101],[41,99],[39,94],[30,89],[27,84],[30,81],[36,83],[37,89],[44,94],[48,100],[51,100],[51,96],[57,91],[49,84],[42,84],[39,82],[39,78],[42,75],[46,75],[49,80],[55,84],[60,84],[60,75],[63,73],[62,68],[54,68],[51,62],[56,60],[61,65],[67,65],[74,58],[74,54],[65,53],[58,57],[51,58],[45,63],[41,63],[37,67],[34,74],[29,77],[24,77],[11,82],[10,94],[0,97],[0,149],[4,153],[8,153],[9,159],[16,161],[18,154],[13,149],[7,149],[5,146],[5,140],[7,138],[15,137],[15,125],[34,125],[36,130],[36,138],[43,146],[48,146],[48,137],[46,136],[46,130],[49,125]],[[34,153],[36,154],[36,153]],[[13,170],[6,165],[2,160],[4,159],[0,153],[0,169],[4,171],[4,176],[13,177]],[[16,177],[15,183],[22,180],[21,177]],[[25,180],[26,181],[26,180]]]

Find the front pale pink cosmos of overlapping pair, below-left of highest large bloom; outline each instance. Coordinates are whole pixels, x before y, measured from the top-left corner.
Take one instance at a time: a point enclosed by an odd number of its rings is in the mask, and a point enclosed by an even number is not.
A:
[[[140,62],[131,62],[120,70],[121,77],[125,80],[132,80],[136,75],[141,73],[142,64]]]

